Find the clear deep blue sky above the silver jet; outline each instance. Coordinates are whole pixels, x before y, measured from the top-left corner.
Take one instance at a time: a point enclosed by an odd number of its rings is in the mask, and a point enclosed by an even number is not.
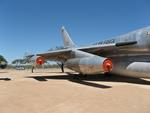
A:
[[[91,44],[149,26],[150,1],[0,0],[0,54],[10,62],[63,45],[63,25],[76,44]]]

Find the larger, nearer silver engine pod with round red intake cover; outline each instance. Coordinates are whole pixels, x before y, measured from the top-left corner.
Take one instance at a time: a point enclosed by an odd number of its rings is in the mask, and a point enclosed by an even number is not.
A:
[[[106,73],[113,68],[113,63],[110,59],[99,56],[69,59],[65,65],[83,74]]]

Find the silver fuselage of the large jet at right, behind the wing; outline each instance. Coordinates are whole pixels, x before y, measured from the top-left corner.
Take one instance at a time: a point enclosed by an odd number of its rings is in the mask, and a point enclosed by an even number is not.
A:
[[[137,41],[134,45],[106,51],[103,57],[113,60],[113,73],[150,78],[150,27],[139,29],[97,44]]]

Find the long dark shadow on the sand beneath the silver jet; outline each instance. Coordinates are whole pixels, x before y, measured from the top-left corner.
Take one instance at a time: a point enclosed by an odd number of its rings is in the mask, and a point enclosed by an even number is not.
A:
[[[142,84],[142,85],[150,85],[150,81],[146,81],[144,79],[140,78],[131,78],[131,77],[125,77],[125,76],[118,76],[118,75],[80,75],[80,74],[72,74],[67,73],[67,75],[55,75],[55,76],[30,76],[27,78],[34,78],[35,80],[44,82],[48,81],[49,79],[55,79],[55,80],[68,80],[70,82],[87,85],[91,87],[96,88],[112,88],[112,86],[92,83],[92,81],[101,81],[101,82],[123,82],[123,83],[131,83],[131,84]]]

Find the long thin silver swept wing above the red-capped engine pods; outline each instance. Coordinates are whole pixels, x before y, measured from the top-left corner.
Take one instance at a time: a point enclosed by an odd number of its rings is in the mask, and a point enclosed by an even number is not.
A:
[[[136,41],[132,42],[125,42],[125,43],[116,43],[116,44],[107,44],[107,45],[92,45],[92,46],[86,46],[86,47],[79,47],[74,48],[76,50],[81,50],[88,53],[96,53],[98,51],[111,51],[115,49],[119,49],[119,47],[122,46],[129,46],[136,44]],[[46,60],[54,60],[54,61],[66,61],[67,59],[72,58],[72,48],[68,49],[62,49],[62,50],[54,50],[54,51],[48,51],[45,53],[37,54],[37,56],[42,56]]]

